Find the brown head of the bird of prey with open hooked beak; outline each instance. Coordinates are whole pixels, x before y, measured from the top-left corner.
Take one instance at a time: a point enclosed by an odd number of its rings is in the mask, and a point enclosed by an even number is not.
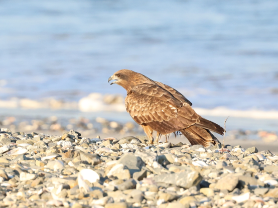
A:
[[[135,71],[131,71],[128,69],[121,69],[116,71],[112,76],[108,78],[108,82],[114,80],[110,84],[118,84],[126,89],[127,92],[131,90],[133,86],[142,83],[150,83],[151,79],[147,76],[144,76],[141,73],[137,73]]]

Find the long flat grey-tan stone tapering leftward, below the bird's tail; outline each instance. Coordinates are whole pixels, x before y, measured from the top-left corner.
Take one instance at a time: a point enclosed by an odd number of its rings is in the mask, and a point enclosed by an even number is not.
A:
[[[165,182],[190,188],[191,186],[198,185],[202,180],[202,176],[197,171],[185,170],[178,173],[156,175],[153,179],[156,182]]]

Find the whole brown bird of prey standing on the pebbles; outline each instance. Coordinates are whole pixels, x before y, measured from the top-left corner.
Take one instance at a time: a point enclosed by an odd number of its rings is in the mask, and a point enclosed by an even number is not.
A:
[[[224,129],[200,115],[191,107],[192,103],[176,89],[154,81],[131,70],[122,69],[109,77],[108,82],[126,89],[126,111],[142,125],[149,142],[153,142],[153,131],[167,135],[180,131],[189,142],[207,147],[220,143],[210,130],[223,135]]]

